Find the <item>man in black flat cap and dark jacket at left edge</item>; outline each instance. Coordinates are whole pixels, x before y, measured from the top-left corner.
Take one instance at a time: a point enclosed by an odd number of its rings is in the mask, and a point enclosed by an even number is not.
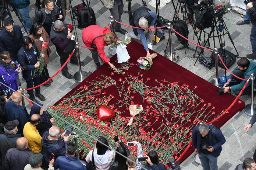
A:
[[[0,169],[4,168],[5,154],[10,148],[16,147],[16,141],[21,136],[17,133],[17,126],[19,124],[18,120],[8,121],[3,125],[0,124],[0,129],[4,129],[5,134],[0,134],[0,153],[2,159],[0,160]]]

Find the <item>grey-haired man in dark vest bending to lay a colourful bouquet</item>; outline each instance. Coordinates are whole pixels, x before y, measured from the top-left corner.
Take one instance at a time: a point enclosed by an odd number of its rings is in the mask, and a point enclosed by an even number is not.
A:
[[[144,49],[147,51],[146,57],[150,57],[148,49],[153,50],[152,39],[155,33],[155,29],[148,29],[148,35],[145,36],[144,31],[147,28],[154,28],[157,15],[146,7],[140,7],[133,12],[132,26],[140,27],[142,29],[133,28],[133,32],[127,32],[125,38],[130,36],[131,38],[141,40]],[[149,26],[148,26],[149,24]]]

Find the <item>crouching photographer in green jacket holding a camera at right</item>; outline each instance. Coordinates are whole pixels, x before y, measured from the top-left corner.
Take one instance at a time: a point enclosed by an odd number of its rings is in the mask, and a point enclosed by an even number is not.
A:
[[[235,68],[232,73],[240,78],[248,78],[250,77],[251,73],[256,75],[256,63],[254,61],[250,61],[247,58],[241,58],[237,61],[237,68]],[[229,86],[230,81],[234,79],[236,80],[237,84],[231,87]],[[229,92],[229,90],[234,91],[235,95],[238,95],[242,88],[244,87],[246,80],[240,80],[236,78],[232,74],[229,75],[228,81],[224,84],[223,88],[225,89],[224,93]],[[256,89],[256,79],[254,79],[254,88]],[[251,80],[249,80],[244,92],[241,95],[251,94]]]

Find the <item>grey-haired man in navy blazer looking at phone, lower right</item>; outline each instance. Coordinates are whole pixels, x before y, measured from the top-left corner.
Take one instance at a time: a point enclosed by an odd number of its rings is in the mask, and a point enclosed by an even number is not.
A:
[[[204,170],[218,170],[218,156],[226,142],[221,130],[214,125],[200,123],[192,131],[192,142]]]

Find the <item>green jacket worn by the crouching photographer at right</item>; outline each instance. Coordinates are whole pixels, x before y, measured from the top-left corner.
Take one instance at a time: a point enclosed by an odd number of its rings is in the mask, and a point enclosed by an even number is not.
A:
[[[244,72],[244,78],[250,77],[251,73],[253,73],[254,76],[256,76],[256,63],[254,61],[251,61],[251,60],[249,60],[249,61],[250,61],[250,65],[247,68],[247,70]],[[234,72],[234,71],[240,71],[240,70],[236,67],[232,72]],[[229,78],[233,79],[233,75],[229,75]],[[246,81],[247,80],[243,80],[242,82],[240,82],[240,84],[233,85],[231,87],[231,90],[232,91],[241,90],[244,87]],[[249,80],[246,87],[249,87],[249,85],[251,85],[251,80]],[[256,89],[256,78],[254,79],[254,85],[253,86]]]

